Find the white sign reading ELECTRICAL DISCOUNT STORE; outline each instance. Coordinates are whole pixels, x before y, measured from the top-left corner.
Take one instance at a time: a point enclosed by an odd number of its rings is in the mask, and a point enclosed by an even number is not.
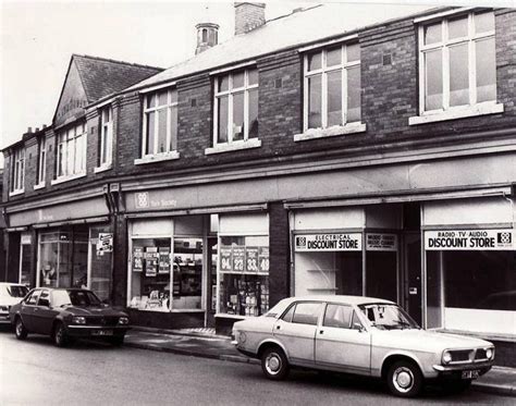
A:
[[[295,237],[296,251],[360,251],[360,233],[303,234]]]

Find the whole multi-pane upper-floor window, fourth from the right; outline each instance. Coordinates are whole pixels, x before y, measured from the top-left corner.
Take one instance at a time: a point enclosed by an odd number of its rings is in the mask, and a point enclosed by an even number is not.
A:
[[[155,91],[144,100],[142,156],[156,156],[177,149],[177,90]]]

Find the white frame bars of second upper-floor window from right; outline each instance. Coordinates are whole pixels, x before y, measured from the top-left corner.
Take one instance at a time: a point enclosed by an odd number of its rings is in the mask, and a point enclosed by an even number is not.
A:
[[[341,98],[342,98],[342,125],[345,126],[352,123],[360,123],[361,119],[357,122],[347,122],[347,70],[355,66],[360,66],[361,60],[355,60],[347,62],[347,46],[358,45],[357,42],[342,44],[341,45],[341,64],[327,66],[327,53],[328,49],[334,48],[334,46],[327,46],[319,50],[310,50],[310,52],[305,53],[304,63],[303,63],[303,131],[306,133],[308,130],[324,130],[328,128],[328,74],[335,71],[342,71],[341,76]],[[358,45],[359,47],[359,45]],[[308,71],[308,56],[316,52],[321,53],[321,67],[315,71]],[[344,62],[346,61],[346,62]],[[315,76],[321,76],[321,127],[310,128],[308,126],[308,79]],[[361,99],[361,98],[360,98]],[[361,113],[360,113],[361,115]]]

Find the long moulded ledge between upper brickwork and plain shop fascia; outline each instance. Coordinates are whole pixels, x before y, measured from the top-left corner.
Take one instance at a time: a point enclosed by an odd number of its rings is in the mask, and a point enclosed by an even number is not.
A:
[[[431,160],[442,159],[454,159],[458,157],[479,156],[489,153],[504,153],[516,151],[516,144],[514,140],[497,140],[493,142],[492,145],[486,146],[486,143],[476,143],[465,146],[447,146],[447,147],[430,147],[423,148],[416,151],[396,150],[383,153],[370,153],[360,157],[349,158],[337,158],[332,159],[315,159],[311,162],[299,162],[280,164],[271,168],[271,161],[265,162],[260,168],[245,169],[234,168],[233,171],[224,170],[223,167],[219,167],[217,172],[202,172],[195,175],[175,176],[173,180],[167,180],[167,176],[162,176],[161,180],[155,177],[149,180],[140,181],[123,181],[120,180],[123,190],[146,190],[149,188],[163,188],[163,187],[176,187],[185,185],[198,185],[217,182],[229,182],[239,181],[247,179],[257,177],[272,177],[272,176],[284,176],[284,175],[296,175],[303,173],[321,172],[321,171],[335,171],[341,169],[356,169],[365,167],[377,167],[395,163],[407,163],[407,162],[425,162]],[[142,176],[139,177],[142,179]],[[163,181],[164,179],[164,181]]]

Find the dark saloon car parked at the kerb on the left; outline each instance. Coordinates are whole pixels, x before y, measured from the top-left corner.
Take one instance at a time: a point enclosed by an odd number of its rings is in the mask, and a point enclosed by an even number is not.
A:
[[[126,313],[82,288],[34,288],[11,307],[9,316],[16,339],[25,340],[28,333],[46,334],[59,347],[74,339],[101,339],[122,345],[128,330]]]

